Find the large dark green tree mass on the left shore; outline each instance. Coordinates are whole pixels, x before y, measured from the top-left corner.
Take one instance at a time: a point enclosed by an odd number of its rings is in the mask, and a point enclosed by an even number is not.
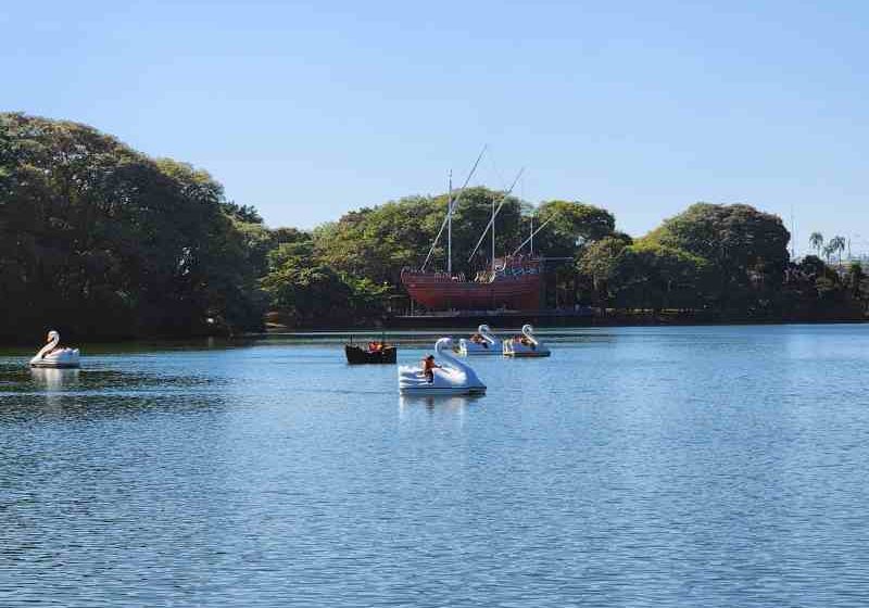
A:
[[[0,114],[0,335],[261,325],[243,240],[206,173],[96,129]]]

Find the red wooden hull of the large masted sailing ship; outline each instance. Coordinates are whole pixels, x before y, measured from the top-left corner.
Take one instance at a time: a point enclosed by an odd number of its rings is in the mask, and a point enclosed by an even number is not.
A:
[[[402,282],[411,297],[431,311],[537,311],[540,275],[499,278],[491,282],[459,281],[443,275],[406,273]]]

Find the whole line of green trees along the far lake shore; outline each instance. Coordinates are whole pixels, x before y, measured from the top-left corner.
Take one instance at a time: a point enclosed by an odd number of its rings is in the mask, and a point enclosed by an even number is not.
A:
[[[549,221],[534,248],[559,259],[547,274],[553,306],[769,319],[866,311],[861,268],[791,261],[781,219],[748,205],[696,204],[632,239],[594,205],[532,207],[470,188],[453,220],[454,269],[474,276],[489,264],[488,241],[471,252],[502,202],[500,254]],[[373,322],[404,293],[402,268],[426,259],[446,204],[446,194],[412,195],[313,230],[270,229],[192,165],[87,125],[0,114],[0,339],[49,327],[88,339],[259,331],[266,313],[295,327]]]

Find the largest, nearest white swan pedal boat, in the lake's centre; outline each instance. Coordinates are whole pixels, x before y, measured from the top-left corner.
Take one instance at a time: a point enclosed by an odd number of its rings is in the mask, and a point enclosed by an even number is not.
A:
[[[402,395],[478,395],[486,393],[486,384],[474,369],[452,354],[453,341],[441,338],[434,344],[437,363],[429,381],[421,367],[399,367],[399,393]]]

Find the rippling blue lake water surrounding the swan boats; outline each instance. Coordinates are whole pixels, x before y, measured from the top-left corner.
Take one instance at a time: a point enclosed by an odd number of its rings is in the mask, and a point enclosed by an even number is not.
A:
[[[0,605],[869,601],[869,327],[546,341],[474,400],[336,339],[2,351]]]

